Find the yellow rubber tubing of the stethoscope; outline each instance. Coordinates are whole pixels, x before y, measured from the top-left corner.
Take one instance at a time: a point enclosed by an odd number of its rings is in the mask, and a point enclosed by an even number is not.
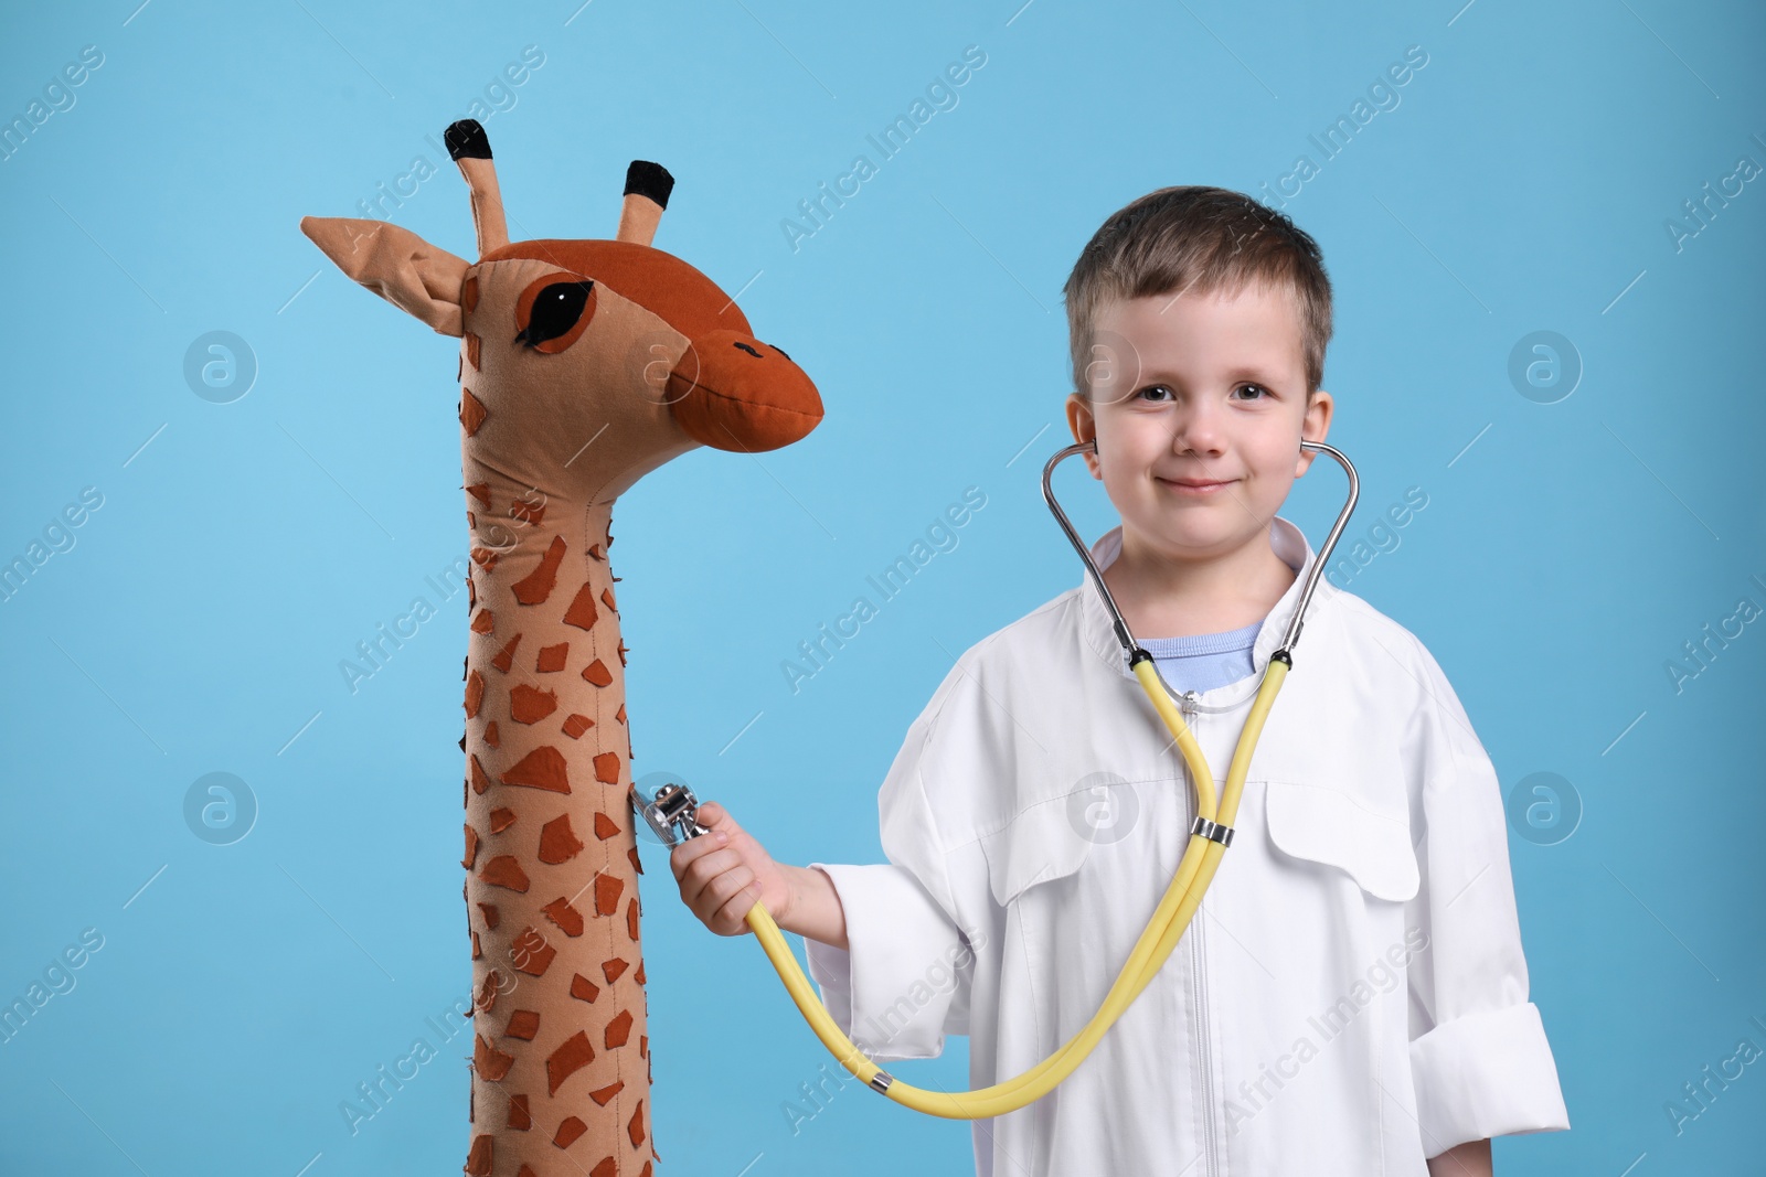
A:
[[[1252,702],[1250,715],[1245,718],[1245,727],[1240,732],[1238,748],[1233,753],[1233,764],[1227,771],[1226,789],[1220,792],[1219,806],[1213,773],[1203,757],[1201,746],[1196,743],[1196,736],[1190,734],[1189,725],[1183,722],[1183,716],[1178,713],[1164,685],[1158,681],[1153,662],[1150,658],[1136,662],[1134,674],[1141,681],[1148,697],[1153,701],[1153,708],[1158,709],[1158,716],[1176,738],[1178,748],[1181,750],[1185,762],[1190,766],[1190,775],[1196,780],[1196,812],[1208,821],[1231,826],[1233,819],[1238,815],[1238,799],[1245,787],[1245,776],[1250,773],[1250,755],[1263,732],[1263,722],[1270,715],[1270,706],[1275,702],[1275,695],[1280,692],[1282,681],[1287,676],[1287,662],[1284,658],[1270,658],[1264,667],[1263,683],[1257,688],[1257,697]],[[878,1089],[872,1080],[878,1075],[887,1075],[888,1082],[879,1087],[879,1091],[895,1103],[913,1108],[915,1112],[940,1115],[945,1119],[985,1119],[1015,1112],[1017,1108],[1040,1099],[1060,1085],[1061,1080],[1072,1075],[1086,1055],[1091,1053],[1091,1048],[1098,1043],[1104,1032],[1109,1031],[1109,1027],[1128,1009],[1130,1004],[1134,1004],[1134,999],[1141,995],[1141,990],[1151,983],[1153,976],[1166,963],[1166,958],[1171,956],[1173,949],[1176,949],[1185,928],[1189,928],[1190,919],[1196,916],[1196,909],[1201,905],[1203,895],[1213,882],[1215,870],[1219,868],[1224,854],[1226,847],[1222,843],[1204,838],[1199,833],[1192,833],[1189,847],[1183,852],[1183,859],[1178,863],[1178,870],[1171,879],[1171,886],[1166,889],[1166,895],[1153,912],[1153,918],[1148,921],[1146,930],[1141,932],[1141,939],[1136,941],[1134,951],[1128,953],[1128,960],[1123,963],[1121,972],[1116,976],[1116,983],[1111,985],[1109,993],[1104,997],[1104,1004],[1091,1016],[1091,1022],[1067,1039],[1060,1050],[1023,1075],[968,1092],[927,1091],[924,1087],[904,1083],[883,1071],[883,1068],[867,1059],[865,1053],[853,1045],[853,1041],[841,1031],[841,1027],[834,1022],[834,1016],[821,1004],[821,999],[811,990],[809,978],[804,976],[804,969],[798,965],[796,955],[791,951],[789,944],[786,944],[784,933],[779,930],[779,925],[774,923],[772,914],[763,903],[754,903],[754,907],[749,909],[747,923],[759,939],[768,960],[772,960],[779,978],[784,981],[786,990],[791,993],[791,1001],[796,1002],[796,1008],[802,1011],[805,1022],[809,1022],[811,1029],[816,1032],[816,1038],[821,1039],[821,1045],[826,1046],[841,1066],[844,1066],[855,1078]]]

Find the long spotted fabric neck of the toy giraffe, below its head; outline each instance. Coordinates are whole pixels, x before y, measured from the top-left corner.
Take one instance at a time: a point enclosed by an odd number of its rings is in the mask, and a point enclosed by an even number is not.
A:
[[[627,801],[613,503],[466,466],[466,914],[475,1050],[468,1173],[646,1177],[641,863]],[[576,1172],[576,1170],[572,1170]]]

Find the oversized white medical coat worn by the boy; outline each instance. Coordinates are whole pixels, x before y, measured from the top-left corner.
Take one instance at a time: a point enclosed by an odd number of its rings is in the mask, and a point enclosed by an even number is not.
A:
[[[1256,674],[1185,715],[1217,791],[1316,559],[1286,519],[1270,544],[1300,575]],[[1120,528],[1093,545],[1100,568],[1120,551]],[[1570,1126],[1501,789],[1441,667],[1323,577],[1293,658],[1183,939],[1060,1087],[973,1122],[980,1177],[1427,1177],[1460,1142]],[[878,1062],[966,1034],[971,1087],[1023,1073],[1097,1013],[1192,792],[1081,581],[968,649],[908,729],[878,799],[890,861],[812,863],[849,942],[805,941],[823,1002]]]

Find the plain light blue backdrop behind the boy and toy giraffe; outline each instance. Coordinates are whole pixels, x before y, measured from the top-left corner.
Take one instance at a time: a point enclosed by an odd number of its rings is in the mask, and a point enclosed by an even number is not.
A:
[[[440,171],[394,219],[473,256],[433,143],[528,44],[544,65],[484,118],[514,236],[608,236],[627,161],[675,173],[657,245],[747,284],[826,420],[759,459],[698,450],[620,501],[636,768],[682,773],[784,861],[879,861],[876,789],[955,655],[1079,582],[1037,478],[1070,439],[1060,288],[1081,245],[1150,189],[1256,191],[1317,157],[1309,132],[1420,44],[1400,106],[1287,212],[1335,282],[1324,383],[1330,439],[1363,478],[1351,538],[1408,487],[1429,496],[1351,589],[1441,660],[1505,791],[1551,771],[1584,806],[1558,845],[1512,836],[1575,1128],[1498,1140],[1496,1166],[1759,1172],[1762,1064],[1679,1135],[1665,1105],[1740,1039],[1766,1048],[1748,1020],[1766,1020],[1766,632],[1681,692],[1665,663],[1738,598],[1766,605],[1748,579],[1766,581],[1766,180],[1679,251],[1665,221],[1738,157],[1766,162],[1766,19],[1460,2],[9,16],[0,115],[81,46],[104,64],[0,162],[0,559],[83,487],[104,505],[0,603],[0,999],[83,928],[104,946],[0,1045],[0,1170],[320,1177],[464,1156],[470,1036],[357,1135],[337,1110],[470,983],[464,602],[355,693],[337,669],[464,551],[456,348],[337,274],[302,215],[362,215],[426,155]],[[865,136],[970,44],[987,64],[959,104],[793,252],[781,221],[855,154],[876,161]],[[231,404],[182,374],[212,330],[260,365]],[[1536,330],[1586,369],[1556,404],[1506,374]],[[1284,512],[1314,544],[1342,489],[1316,473]],[[781,662],[970,485],[987,505],[959,545],[791,693]],[[1070,468],[1061,489],[1088,536],[1113,526],[1097,484]],[[260,806],[228,847],[182,813],[210,771]],[[793,1133],[798,1085],[842,1073],[758,944],[705,932],[645,854],[662,1173],[971,1172],[966,1124],[855,1083]],[[901,1073],[966,1087],[964,1052]]]

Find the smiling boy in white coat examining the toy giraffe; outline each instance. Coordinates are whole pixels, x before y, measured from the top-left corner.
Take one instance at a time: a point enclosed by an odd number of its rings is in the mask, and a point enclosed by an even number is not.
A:
[[[1323,441],[1330,282],[1238,192],[1111,215],[1067,281],[1093,545],[1224,783],[1316,554],[1277,510]],[[1091,1018],[1189,842],[1194,785],[1084,582],[968,649],[879,794],[888,863],[772,861],[729,813],[676,847],[721,935],[763,902],[878,1062],[970,1036],[971,1087]],[[1491,1173],[1568,1128],[1496,773],[1429,651],[1321,579],[1236,835],[1178,948],[1084,1062],[973,1122],[982,1177]]]

